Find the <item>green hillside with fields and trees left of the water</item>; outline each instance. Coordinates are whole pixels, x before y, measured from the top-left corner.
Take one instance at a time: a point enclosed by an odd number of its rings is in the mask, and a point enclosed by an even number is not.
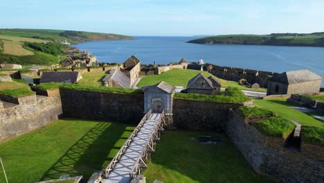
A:
[[[0,63],[57,64],[69,48],[63,41],[132,40],[133,37],[73,30],[0,29]]]

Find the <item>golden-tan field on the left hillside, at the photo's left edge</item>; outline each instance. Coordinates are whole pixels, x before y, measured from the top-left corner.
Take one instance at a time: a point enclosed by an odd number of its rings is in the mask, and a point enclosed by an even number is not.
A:
[[[3,54],[10,55],[34,55],[33,51],[26,50],[21,44],[17,42],[2,41],[3,42]]]

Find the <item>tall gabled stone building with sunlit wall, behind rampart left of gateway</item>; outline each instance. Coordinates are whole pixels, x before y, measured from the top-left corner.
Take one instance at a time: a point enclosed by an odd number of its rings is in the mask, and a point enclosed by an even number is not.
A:
[[[120,67],[122,71],[130,79],[130,85],[132,86],[138,78],[138,73],[141,71],[141,61],[136,58],[135,55],[128,58]]]

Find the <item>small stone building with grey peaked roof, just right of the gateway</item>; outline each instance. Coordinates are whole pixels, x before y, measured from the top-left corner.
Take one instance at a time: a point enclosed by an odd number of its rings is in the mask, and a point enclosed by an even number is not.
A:
[[[199,73],[188,81],[187,90],[189,94],[213,94],[213,82]]]

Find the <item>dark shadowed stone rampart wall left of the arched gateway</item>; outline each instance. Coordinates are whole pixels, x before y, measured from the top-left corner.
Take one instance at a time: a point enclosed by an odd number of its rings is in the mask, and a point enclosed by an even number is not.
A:
[[[143,94],[112,94],[60,89],[64,116],[137,124],[143,118]]]

